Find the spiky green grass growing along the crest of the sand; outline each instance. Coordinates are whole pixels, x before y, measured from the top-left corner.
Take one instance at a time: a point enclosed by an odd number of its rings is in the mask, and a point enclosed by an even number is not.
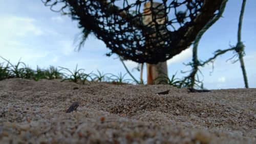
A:
[[[68,68],[50,66],[48,69],[40,69],[38,66],[36,70],[31,69],[24,62],[18,61],[16,65],[10,63],[10,61],[4,59],[0,56],[5,62],[0,63],[0,80],[8,78],[26,78],[33,79],[38,81],[40,79],[61,79],[61,81],[73,81],[75,83],[91,83],[91,82],[112,82],[113,84],[143,84],[138,83],[133,79],[126,79],[125,76],[120,72],[117,75],[111,73],[103,73],[97,70],[97,73],[85,73],[84,69],[76,68],[71,71]],[[185,83],[180,79],[176,78],[176,74],[172,78],[168,77],[159,77],[156,80],[165,80],[166,84],[173,85],[174,87],[185,87],[189,83]]]

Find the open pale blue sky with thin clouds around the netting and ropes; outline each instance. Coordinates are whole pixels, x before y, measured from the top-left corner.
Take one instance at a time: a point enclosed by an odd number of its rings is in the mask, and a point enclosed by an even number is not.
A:
[[[237,44],[238,20],[242,1],[229,0],[223,17],[220,18],[203,35],[198,47],[200,60],[207,60],[217,49],[226,49]],[[256,88],[256,1],[247,0],[242,25],[242,41],[245,47],[244,62],[250,88]],[[0,0],[0,56],[11,63],[20,60],[32,69],[49,68],[49,66],[65,67],[70,70],[78,68],[86,73],[97,70],[103,73],[125,74],[126,70],[117,59],[117,55],[105,56],[110,52],[104,42],[89,35],[84,47],[75,50],[78,43],[75,39],[81,30],[77,21],[69,16],[50,11],[40,0]],[[204,87],[206,89],[236,89],[244,88],[240,63],[232,64],[227,61],[233,52],[217,57],[212,65],[200,68]],[[192,49],[188,48],[179,55],[167,61],[168,76],[175,73],[177,78],[188,75],[181,71],[190,70],[188,63],[192,59]],[[0,63],[5,62],[0,59]],[[139,79],[139,72],[134,70],[138,66],[132,61],[125,61],[126,66]],[[128,75],[126,78],[130,78]],[[146,80],[144,69],[143,78]]]

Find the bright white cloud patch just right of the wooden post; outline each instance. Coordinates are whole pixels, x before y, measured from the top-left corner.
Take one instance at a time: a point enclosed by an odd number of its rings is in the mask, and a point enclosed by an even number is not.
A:
[[[183,50],[180,54],[175,55],[172,59],[167,61],[167,65],[174,63],[181,63],[186,61],[187,59],[191,59],[192,56],[192,47],[189,47],[185,50]]]

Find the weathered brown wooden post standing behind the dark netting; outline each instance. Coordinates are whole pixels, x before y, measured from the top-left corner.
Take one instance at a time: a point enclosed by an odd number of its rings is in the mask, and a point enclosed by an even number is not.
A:
[[[152,12],[150,10],[151,7],[154,8],[155,12]],[[161,3],[156,3],[156,2],[145,3],[143,12],[144,12],[144,17],[143,17],[144,25],[147,25],[149,23],[150,25],[154,25],[154,22],[152,22],[153,17],[156,17],[156,22],[158,24],[163,24],[165,22],[165,18],[162,17],[162,14],[165,13],[165,11]],[[147,84],[166,84],[165,80],[168,77],[166,61],[159,62],[156,65],[146,64],[146,69],[147,69]]]

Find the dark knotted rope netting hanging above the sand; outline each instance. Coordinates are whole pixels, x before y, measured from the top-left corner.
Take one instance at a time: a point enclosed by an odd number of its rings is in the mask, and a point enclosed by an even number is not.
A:
[[[79,21],[112,53],[138,63],[166,61],[188,48],[223,0],[90,1],[42,0]]]

